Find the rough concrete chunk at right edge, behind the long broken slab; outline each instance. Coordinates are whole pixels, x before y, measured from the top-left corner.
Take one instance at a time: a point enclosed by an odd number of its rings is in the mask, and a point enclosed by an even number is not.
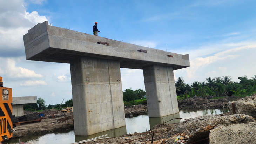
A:
[[[230,115],[233,114],[233,107],[235,107],[235,114],[245,114],[256,118],[256,94],[237,101],[229,101],[228,104]]]

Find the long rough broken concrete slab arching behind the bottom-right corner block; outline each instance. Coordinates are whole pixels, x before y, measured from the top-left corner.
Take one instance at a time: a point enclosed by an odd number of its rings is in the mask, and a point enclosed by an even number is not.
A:
[[[175,143],[197,143],[202,140],[209,143],[208,137],[211,130],[218,128],[219,126],[229,126],[248,122],[256,124],[254,118],[243,114],[229,116],[200,116],[187,119],[186,121],[174,125],[168,136],[171,138],[179,138],[174,141]]]

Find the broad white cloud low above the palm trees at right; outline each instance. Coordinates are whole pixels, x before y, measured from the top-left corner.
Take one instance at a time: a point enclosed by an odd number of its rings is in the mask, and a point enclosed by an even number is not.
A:
[[[241,44],[244,44],[241,46]],[[208,51],[212,53],[210,56],[206,57],[195,57],[190,59],[190,67],[185,69],[180,69],[175,71],[175,75],[180,77],[186,77],[190,83],[193,81],[204,81],[208,76],[218,77],[230,75],[234,77],[242,76],[244,74],[252,75],[254,67],[248,70],[248,66],[254,64],[252,60],[256,52],[255,43],[233,43],[233,44],[223,44],[226,46],[222,51],[214,50],[215,47],[211,48],[208,46]],[[194,50],[193,53],[200,53],[201,49]],[[214,53],[215,52],[215,53]],[[189,53],[189,56],[191,54]],[[246,61],[245,61],[246,60]]]

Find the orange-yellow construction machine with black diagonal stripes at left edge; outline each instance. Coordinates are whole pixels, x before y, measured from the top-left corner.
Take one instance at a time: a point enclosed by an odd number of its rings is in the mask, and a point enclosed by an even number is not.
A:
[[[12,137],[12,88],[3,87],[0,77],[0,142]]]

